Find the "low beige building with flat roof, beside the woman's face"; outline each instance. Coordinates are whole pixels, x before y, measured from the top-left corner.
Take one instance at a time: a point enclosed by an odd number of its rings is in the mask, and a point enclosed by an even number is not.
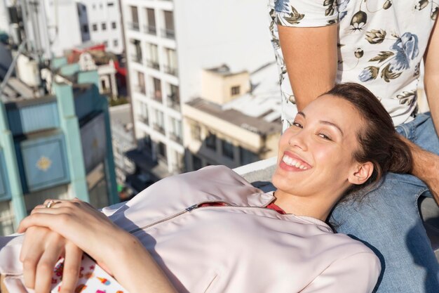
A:
[[[182,111],[188,171],[276,156],[282,130],[276,70],[269,63],[252,73],[227,65],[203,71],[203,98],[184,103]]]

